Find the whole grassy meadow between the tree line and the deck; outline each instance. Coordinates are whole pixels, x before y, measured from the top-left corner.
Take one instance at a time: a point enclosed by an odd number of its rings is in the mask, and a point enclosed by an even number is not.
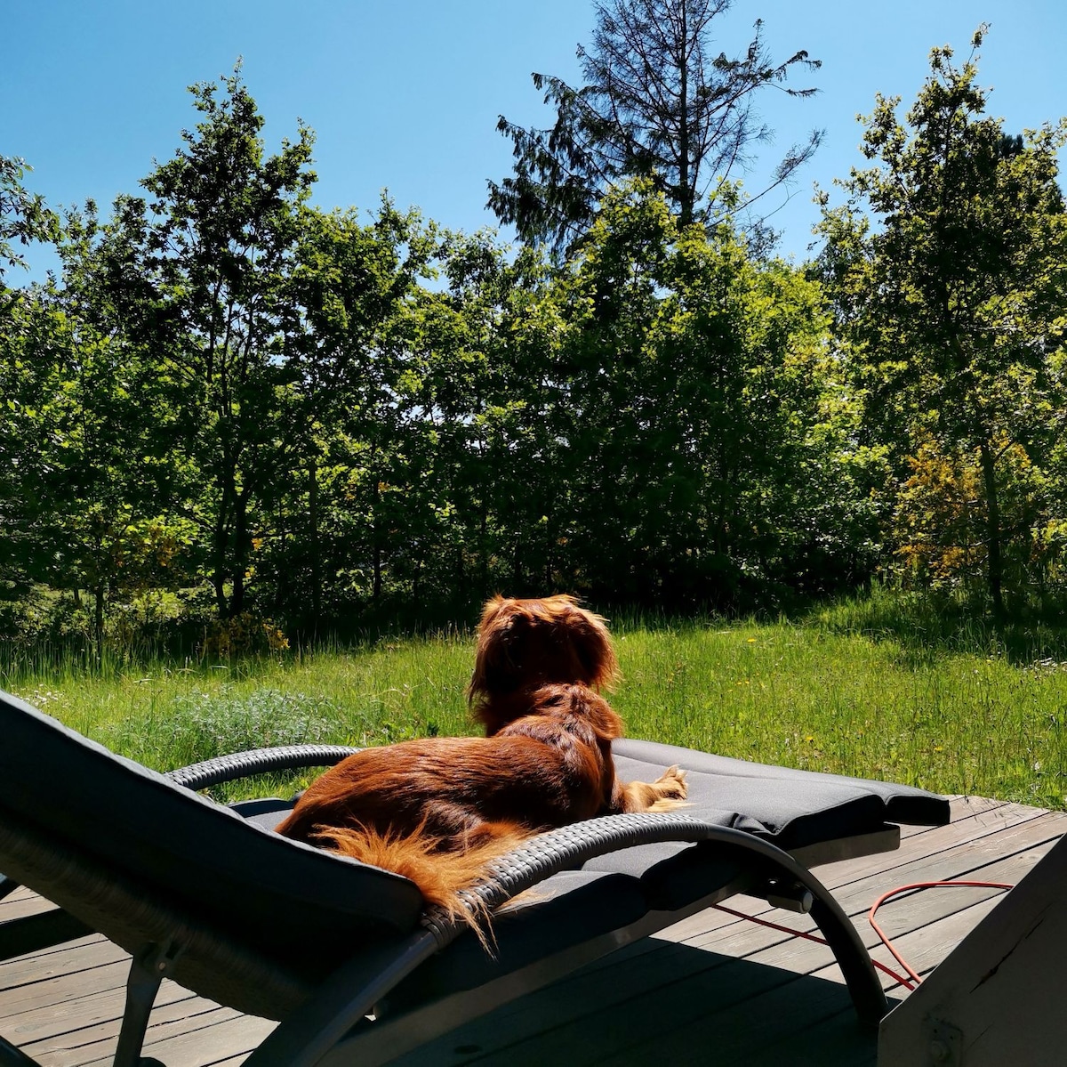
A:
[[[906,607],[906,606],[905,606]],[[799,621],[612,622],[628,736],[1064,807],[1062,633],[946,626],[882,597]],[[473,634],[220,663],[7,665],[0,685],[165,770],[268,744],[471,733]],[[1058,656],[1058,658],[1057,658]]]

